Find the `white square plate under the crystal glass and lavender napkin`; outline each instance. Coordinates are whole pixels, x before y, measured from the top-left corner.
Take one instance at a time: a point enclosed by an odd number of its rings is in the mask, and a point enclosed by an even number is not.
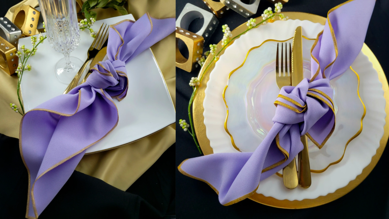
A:
[[[96,21],[92,28],[97,31],[102,23],[111,25],[125,19],[135,20],[131,14],[124,15]],[[80,34],[80,44],[70,55],[86,60],[86,51],[93,38],[87,31],[81,31]],[[20,39],[19,45],[23,44],[31,48],[31,39],[29,37]],[[21,83],[26,111],[61,95],[67,87],[67,84],[56,79],[54,73],[54,66],[63,55],[54,51],[49,42],[40,44],[37,50],[36,55],[28,59],[32,69],[25,71]],[[88,69],[89,66],[85,72]],[[89,147],[86,153],[107,150],[136,141],[175,122],[173,102],[151,50],[147,49],[127,62],[126,69],[129,80],[127,96],[120,102],[113,100],[119,111],[119,122],[107,137]]]

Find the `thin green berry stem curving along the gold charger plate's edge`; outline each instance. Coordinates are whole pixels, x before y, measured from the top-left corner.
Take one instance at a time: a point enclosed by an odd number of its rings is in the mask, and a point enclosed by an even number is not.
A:
[[[245,31],[243,31],[243,32],[240,33],[239,35],[233,37],[231,40],[229,40],[229,41],[222,47],[222,49],[221,49],[221,50],[218,52],[218,54],[216,54],[215,56],[218,56],[218,55],[227,47],[227,45],[228,45],[229,43],[231,43],[232,41],[234,41],[236,38],[238,38],[238,37],[240,37],[241,35],[245,34],[245,33],[246,33],[247,31],[249,31],[250,29],[259,27],[260,24],[262,24],[263,22],[265,22],[265,21],[267,21],[267,20],[273,18],[274,16],[276,16],[276,14],[273,14],[273,15],[269,16],[267,19],[265,19],[265,20],[259,22],[255,27],[247,28]],[[279,16],[279,15],[277,15],[277,16]],[[214,56],[214,57],[215,57],[215,56]],[[213,58],[214,58],[214,57],[213,57]],[[200,79],[198,80],[199,82],[201,82],[201,80],[202,80],[202,78],[203,78],[205,72],[207,72],[208,68],[211,66],[212,63],[214,63],[214,59],[212,59],[212,61],[207,65],[207,67],[205,67],[203,73],[202,73],[201,76],[200,76]],[[202,154],[201,149],[200,149],[200,145],[199,145],[198,142],[197,142],[196,133],[195,133],[195,128],[194,128],[194,125],[193,125],[193,120],[192,120],[192,115],[191,115],[191,107],[192,107],[192,103],[193,103],[193,101],[194,101],[194,99],[195,99],[195,95],[196,95],[196,93],[197,93],[197,87],[198,87],[198,86],[195,86],[195,88],[194,88],[194,90],[193,90],[193,93],[192,93],[192,96],[191,96],[191,99],[189,100],[189,105],[188,105],[188,115],[189,115],[189,122],[190,122],[190,124],[191,124],[191,130],[192,130],[192,137],[193,137],[193,140],[195,141],[195,144],[196,144],[196,146],[197,146],[198,151],[200,152],[200,154]],[[189,131],[189,130],[188,130],[188,131]]]

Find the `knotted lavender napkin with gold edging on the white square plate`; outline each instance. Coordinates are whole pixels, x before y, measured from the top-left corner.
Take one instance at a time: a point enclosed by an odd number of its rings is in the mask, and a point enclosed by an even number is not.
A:
[[[69,179],[85,150],[117,125],[112,98],[128,89],[125,63],[174,31],[175,19],[148,13],[110,26],[108,60],[85,83],[28,111],[20,124],[20,153],[28,170],[26,218],[36,219]],[[130,74],[142,74],[130,72]]]

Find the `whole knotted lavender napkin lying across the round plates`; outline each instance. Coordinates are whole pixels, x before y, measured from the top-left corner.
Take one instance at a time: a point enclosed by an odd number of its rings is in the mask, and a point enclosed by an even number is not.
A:
[[[311,49],[312,78],[282,87],[274,125],[254,152],[218,153],[182,162],[184,175],[206,182],[222,205],[251,196],[303,149],[307,135],[321,148],[335,126],[330,80],[350,67],[363,46],[375,0],[349,0],[328,12]]]

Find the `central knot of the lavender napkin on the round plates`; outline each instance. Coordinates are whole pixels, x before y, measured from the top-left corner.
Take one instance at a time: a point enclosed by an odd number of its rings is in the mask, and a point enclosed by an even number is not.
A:
[[[335,127],[332,99],[333,89],[328,79],[313,82],[304,79],[296,87],[284,86],[274,102],[277,109],[273,122],[287,125],[284,129],[298,125],[302,136],[306,134],[322,148]]]

